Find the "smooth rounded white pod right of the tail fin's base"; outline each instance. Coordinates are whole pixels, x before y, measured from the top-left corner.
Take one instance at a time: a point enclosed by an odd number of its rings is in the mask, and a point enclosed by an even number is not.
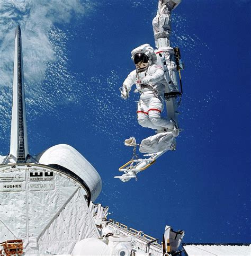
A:
[[[92,201],[100,194],[102,189],[100,175],[75,148],[66,144],[59,144],[41,153],[37,160],[44,165],[58,164],[64,166],[77,174],[91,190]]]

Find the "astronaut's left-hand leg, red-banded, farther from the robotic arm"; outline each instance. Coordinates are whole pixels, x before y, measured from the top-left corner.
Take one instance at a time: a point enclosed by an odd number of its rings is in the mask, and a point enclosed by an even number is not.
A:
[[[148,104],[147,102],[144,102],[143,100],[139,100],[138,102],[138,110],[137,110],[137,119],[139,125],[146,128],[151,129],[160,129],[160,127],[157,127],[152,123],[148,116]]]

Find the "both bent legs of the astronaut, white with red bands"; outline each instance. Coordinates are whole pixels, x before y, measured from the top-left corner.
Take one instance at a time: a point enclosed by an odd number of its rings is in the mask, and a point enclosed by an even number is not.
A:
[[[139,125],[156,130],[173,129],[174,123],[161,116],[163,109],[162,97],[152,97],[148,100],[140,99],[137,111]]]

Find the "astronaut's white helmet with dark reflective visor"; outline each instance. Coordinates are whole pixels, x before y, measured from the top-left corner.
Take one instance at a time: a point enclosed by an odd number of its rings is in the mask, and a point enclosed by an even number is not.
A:
[[[154,48],[146,43],[131,51],[131,59],[133,60],[136,69],[145,70],[152,63]]]

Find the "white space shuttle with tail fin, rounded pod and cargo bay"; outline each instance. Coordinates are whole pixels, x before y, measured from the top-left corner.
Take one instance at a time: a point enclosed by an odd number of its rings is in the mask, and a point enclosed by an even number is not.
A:
[[[0,157],[0,254],[2,249],[6,255],[13,250],[26,255],[163,255],[163,246],[172,241],[165,239],[162,246],[141,231],[107,219],[108,207],[93,204],[101,188],[100,175],[69,145],[29,154],[17,26],[10,154]],[[178,233],[173,251],[183,235]]]

